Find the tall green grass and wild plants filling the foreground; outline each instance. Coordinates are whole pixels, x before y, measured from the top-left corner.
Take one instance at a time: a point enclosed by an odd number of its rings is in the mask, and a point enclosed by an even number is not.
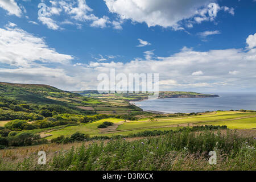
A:
[[[170,133],[127,142],[94,142],[59,151],[39,166],[35,156],[19,163],[0,160],[0,169],[19,170],[255,170],[256,142],[234,131]],[[217,164],[208,152],[217,152]],[[14,159],[15,160],[15,159]]]

